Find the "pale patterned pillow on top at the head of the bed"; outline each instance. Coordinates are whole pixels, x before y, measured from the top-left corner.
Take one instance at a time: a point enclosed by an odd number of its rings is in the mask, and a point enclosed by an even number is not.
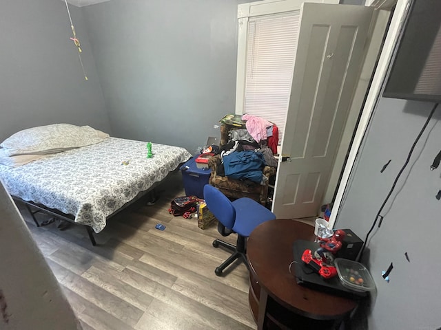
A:
[[[108,134],[90,126],[52,124],[19,131],[4,140],[0,146],[6,149],[5,155],[8,156],[45,155],[96,144],[107,137]]]

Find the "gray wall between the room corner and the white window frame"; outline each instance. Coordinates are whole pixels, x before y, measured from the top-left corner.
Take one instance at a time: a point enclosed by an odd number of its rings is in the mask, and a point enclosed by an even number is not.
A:
[[[236,0],[112,0],[83,7],[115,136],[194,152],[234,113]]]

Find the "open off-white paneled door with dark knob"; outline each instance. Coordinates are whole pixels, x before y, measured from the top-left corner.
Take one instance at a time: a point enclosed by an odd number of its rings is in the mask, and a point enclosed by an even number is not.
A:
[[[282,142],[285,157],[279,160],[273,197],[279,219],[318,214],[368,45],[372,13],[362,5],[302,5]]]

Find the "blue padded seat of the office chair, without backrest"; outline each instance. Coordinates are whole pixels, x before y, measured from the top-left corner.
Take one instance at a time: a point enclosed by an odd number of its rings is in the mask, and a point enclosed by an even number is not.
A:
[[[243,197],[236,199],[232,204],[236,209],[236,219],[240,219],[234,222],[232,229],[240,236],[248,237],[260,223],[276,219],[273,212],[253,199]]]

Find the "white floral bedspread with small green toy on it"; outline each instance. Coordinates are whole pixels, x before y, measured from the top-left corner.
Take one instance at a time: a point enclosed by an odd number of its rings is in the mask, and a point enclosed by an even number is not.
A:
[[[192,155],[185,148],[108,137],[19,167],[0,165],[11,195],[72,214],[75,222],[103,230],[110,214]]]

